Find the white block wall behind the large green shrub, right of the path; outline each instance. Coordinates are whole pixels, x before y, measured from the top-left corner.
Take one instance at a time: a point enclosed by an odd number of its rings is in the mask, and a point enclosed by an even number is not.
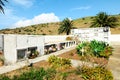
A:
[[[72,29],[71,34],[78,36],[80,41],[91,41],[91,40],[99,40],[109,42],[110,29],[108,28],[108,32],[104,32],[104,28],[80,28],[80,29]]]

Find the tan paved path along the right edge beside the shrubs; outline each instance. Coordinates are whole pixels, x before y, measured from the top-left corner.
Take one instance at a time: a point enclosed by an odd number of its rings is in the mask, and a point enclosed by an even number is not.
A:
[[[111,69],[114,80],[120,80],[120,44],[113,44],[113,55],[108,62],[108,68]]]

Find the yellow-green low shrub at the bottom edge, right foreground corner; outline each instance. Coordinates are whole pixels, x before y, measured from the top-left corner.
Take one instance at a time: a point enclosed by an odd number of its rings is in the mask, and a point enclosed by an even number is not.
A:
[[[113,80],[112,73],[103,67],[78,67],[76,74],[85,80]]]

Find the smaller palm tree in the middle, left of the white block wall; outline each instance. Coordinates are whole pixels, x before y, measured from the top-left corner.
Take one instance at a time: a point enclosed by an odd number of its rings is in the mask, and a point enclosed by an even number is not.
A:
[[[73,28],[73,21],[68,18],[64,19],[60,24],[60,28],[58,29],[59,34],[65,32],[66,35],[70,34],[70,30]]]

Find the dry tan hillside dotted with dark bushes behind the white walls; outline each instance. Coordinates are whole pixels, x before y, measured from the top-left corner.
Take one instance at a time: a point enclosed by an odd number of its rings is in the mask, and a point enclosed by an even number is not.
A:
[[[114,15],[118,18],[117,28],[111,28],[112,34],[120,34],[120,15]],[[75,28],[88,28],[91,25],[94,17],[84,17],[73,20],[73,26]],[[15,28],[15,29],[3,29],[0,30],[2,34],[28,34],[28,35],[58,35],[58,28],[60,22],[37,24],[27,27]]]

